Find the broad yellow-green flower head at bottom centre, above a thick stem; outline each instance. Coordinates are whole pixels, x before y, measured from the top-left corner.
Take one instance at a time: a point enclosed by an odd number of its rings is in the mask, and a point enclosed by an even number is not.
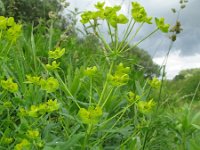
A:
[[[101,107],[80,108],[78,115],[85,124],[97,124],[103,112]]]

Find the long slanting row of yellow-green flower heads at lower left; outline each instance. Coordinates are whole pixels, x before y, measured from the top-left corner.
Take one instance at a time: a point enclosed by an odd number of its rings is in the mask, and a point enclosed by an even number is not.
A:
[[[57,111],[60,107],[58,101],[55,100],[48,100],[45,103],[41,103],[39,105],[31,105],[29,109],[20,108],[19,109],[19,116],[30,116],[30,117],[39,117],[46,113]]]

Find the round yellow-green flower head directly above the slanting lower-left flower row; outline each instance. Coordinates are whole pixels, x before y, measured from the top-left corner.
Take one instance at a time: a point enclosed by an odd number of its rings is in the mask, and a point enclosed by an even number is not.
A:
[[[40,85],[41,88],[48,93],[55,92],[59,88],[59,82],[54,77],[50,77],[47,80],[41,79]]]

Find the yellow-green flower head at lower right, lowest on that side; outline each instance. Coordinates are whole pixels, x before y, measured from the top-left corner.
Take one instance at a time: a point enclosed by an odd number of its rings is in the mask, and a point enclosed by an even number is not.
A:
[[[152,99],[150,101],[139,101],[137,103],[138,110],[144,114],[151,112],[154,106],[155,102]]]

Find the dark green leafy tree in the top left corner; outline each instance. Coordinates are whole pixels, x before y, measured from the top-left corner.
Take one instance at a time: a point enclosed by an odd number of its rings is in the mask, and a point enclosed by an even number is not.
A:
[[[49,13],[58,16],[68,3],[58,0],[0,0],[0,15],[14,17],[23,22],[38,23],[39,19],[49,19]]]

